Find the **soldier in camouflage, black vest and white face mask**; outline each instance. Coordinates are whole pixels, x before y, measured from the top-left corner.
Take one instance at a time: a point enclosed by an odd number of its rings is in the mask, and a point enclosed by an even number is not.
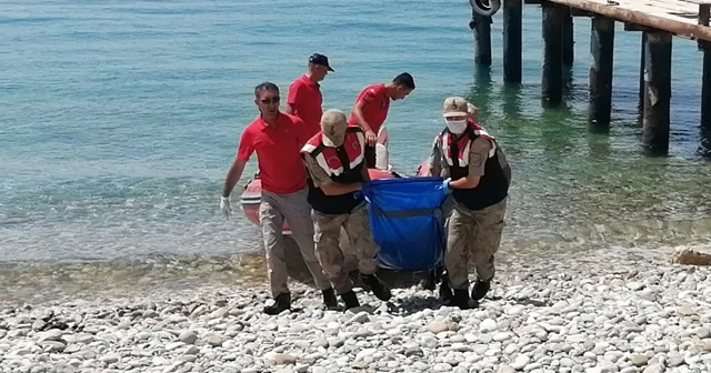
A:
[[[467,100],[444,100],[447,128],[434,139],[430,157],[433,175],[447,178],[453,209],[447,221],[448,283],[453,305],[469,308],[469,260],[477,269],[471,298],[481,300],[494,276],[494,254],[504,226],[511,169],[493,137],[472,119]],[[472,110],[473,111],[473,110]]]

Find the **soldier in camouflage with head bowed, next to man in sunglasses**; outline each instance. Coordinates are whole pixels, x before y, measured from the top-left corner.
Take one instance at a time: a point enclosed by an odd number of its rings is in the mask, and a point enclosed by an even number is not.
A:
[[[346,114],[328,110],[321,117],[321,131],[301,149],[309,177],[309,203],[313,209],[313,241],[326,276],[347,309],[359,306],[353,283],[339,248],[341,228],[354,251],[362,282],[382,301],[390,290],[375,276],[378,245],[373,241],[362,195],[369,181],[365,168],[365,135],[359,127],[348,127]]]

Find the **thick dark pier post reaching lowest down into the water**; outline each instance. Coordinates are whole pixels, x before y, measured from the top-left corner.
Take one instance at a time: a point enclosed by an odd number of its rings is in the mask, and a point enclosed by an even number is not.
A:
[[[642,142],[650,153],[669,151],[671,101],[671,34],[644,32],[644,120]]]

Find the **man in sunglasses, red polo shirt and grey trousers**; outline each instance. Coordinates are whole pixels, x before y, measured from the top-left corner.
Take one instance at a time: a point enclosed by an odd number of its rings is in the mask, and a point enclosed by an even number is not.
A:
[[[254,103],[260,115],[251,122],[240,138],[237,158],[222,189],[220,209],[230,215],[229,195],[244,171],[251,154],[257,152],[259,177],[262,183],[259,220],[262,228],[267,268],[276,304],[264,308],[268,314],[278,314],[291,308],[284,246],[283,220],[289,221],[291,234],[301,250],[313,281],[323,293],[327,308],[338,306],[331,284],[316,258],[311,206],[307,202],[306,170],[301,163],[301,145],[306,143],[303,121],[279,111],[279,88],[264,82],[254,88]]]

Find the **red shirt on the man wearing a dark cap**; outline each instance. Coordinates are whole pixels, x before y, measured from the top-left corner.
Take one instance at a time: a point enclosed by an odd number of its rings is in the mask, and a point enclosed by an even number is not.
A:
[[[289,85],[287,103],[293,107],[293,113],[306,124],[309,139],[321,131],[323,95],[319,84],[306,74],[299,77]]]

